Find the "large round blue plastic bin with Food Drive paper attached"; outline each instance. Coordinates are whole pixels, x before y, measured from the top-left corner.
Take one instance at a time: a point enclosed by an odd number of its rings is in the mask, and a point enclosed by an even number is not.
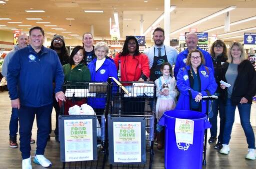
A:
[[[190,123],[193,130],[184,122]],[[207,116],[190,110],[169,110],[163,113],[159,124],[165,126],[165,169],[201,169],[204,130],[211,127]],[[176,139],[188,139],[190,144]]]

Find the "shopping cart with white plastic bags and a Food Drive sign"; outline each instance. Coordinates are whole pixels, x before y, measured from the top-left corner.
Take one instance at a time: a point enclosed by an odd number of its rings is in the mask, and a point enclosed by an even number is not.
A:
[[[105,116],[107,116],[109,110],[108,90],[110,87],[108,83],[65,82],[63,89],[65,92],[66,102],[62,102],[62,113],[59,116],[60,161],[63,163],[62,169],[104,169],[107,159],[107,133],[105,130]],[[89,111],[91,110],[91,107],[85,105],[86,103],[93,108],[96,114],[94,114],[94,111],[92,111],[92,113]],[[98,105],[101,105],[101,107],[97,107]],[[75,112],[79,111],[75,108],[79,107],[82,115],[66,115],[67,112],[69,112],[69,114],[75,114]],[[87,122],[92,122],[92,139],[90,138],[90,140],[86,138],[87,135],[81,137],[79,135],[78,137],[70,139],[68,134],[71,132],[66,132],[68,128],[64,126],[67,124],[67,122],[69,122],[68,120],[71,120],[70,124],[73,126],[79,126],[76,132],[78,134],[80,134],[79,129],[82,130],[82,127],[84,127]],[[70,128],[73,129],[72,127]],[[89,129],[90,128],[86,128],[87,131],[90,131]],[[81,131],[81,135],[84,134],[82,132],[83,131]],[[65,135],[66,133],[67,135]],[[89,140],[91,142],[88,142]],[[81,156],[84,152],[90,152],[89,150],[93,152],[89,154],[93,157],[87,156],[90,157],[90,159],[88,158],[89,160],[80,160],[84,158],[79,156]],[[87,154],[84,153],[84,156],[85,155]]]

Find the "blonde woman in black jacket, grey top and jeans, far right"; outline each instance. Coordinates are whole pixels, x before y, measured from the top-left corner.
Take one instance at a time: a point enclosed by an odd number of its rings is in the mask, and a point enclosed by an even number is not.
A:
[[[234,112],[237,106],[240,116],[241,126],[246,136],[248,153],[246,159],[255,160],[255,138],[250,125],[250,108],[252,96],[256,91],[256,73],[252,64],[246,60],[246,56],[241,43],[233,42],[228,51],[227,62],[223,64],[223,81],[230,84],[223,89],[223,99],[225,103],[225,124],[223,131],[222,149],[219,153],[228,154],[228,143],[234,122]]]

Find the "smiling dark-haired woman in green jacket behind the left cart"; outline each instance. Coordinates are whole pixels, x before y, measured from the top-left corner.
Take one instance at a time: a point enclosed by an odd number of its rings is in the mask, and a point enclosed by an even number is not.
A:
[[[64,82],[89,82],[90,72],[84,64],[85,51],[82,46],[75,46],[69,56],[69,63],[63,65]],[[78,86],[81,85],[81,86]],[[82,84],[77,84],[74,88],[87,88]],[[81,106],[86,103],[85,98],[67,98],[64,103],[64,115],[68,115],[68,109],[74,105]]]

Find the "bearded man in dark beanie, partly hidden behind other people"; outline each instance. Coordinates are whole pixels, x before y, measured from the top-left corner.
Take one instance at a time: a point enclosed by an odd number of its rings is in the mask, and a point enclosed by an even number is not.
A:
[[[53,38],[51,39],[51,43],[50,43],[50,49],[54,50],[59,58],[59,61],[61,63],[61,65],[63,66],[64,64],[68,63],[68,53],[65,47],[65,41],[63,36],[55,34],[53,36]],[[55,140],[56,142],[59,142],[58,139],[58,116],[60,114],[60,107],[56,101],[55,98],[55,94],[53,93],[53,107],[55,109],[55,118],[56,118],[56,123],[55,123],[55,130],[54,130],[54,134],[55,134]],[[49,134],[51,133],[51,119],[50,119],[50,129],[49,129]],[[48,136],[48,141],[50,140],[50,136]]]

